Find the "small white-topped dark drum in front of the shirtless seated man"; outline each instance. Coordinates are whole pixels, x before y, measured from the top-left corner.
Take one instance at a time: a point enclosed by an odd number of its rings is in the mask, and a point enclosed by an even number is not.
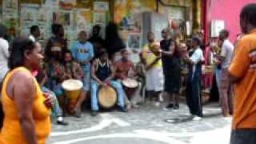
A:
[[[138,82],[132,78],[126,78],[122,80],[122,86],[126,91],[126,95],[128,98],[134,94],[135,90],[138,88]]]

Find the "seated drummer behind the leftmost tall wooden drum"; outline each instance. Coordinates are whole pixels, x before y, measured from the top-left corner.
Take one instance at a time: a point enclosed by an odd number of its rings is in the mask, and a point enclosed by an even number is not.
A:
[[[84,72],[82,70],[82,67],[78,64],[78,62],[74,62],[72,58],[72,53],[70,50],[65,50],[64,53],[64,75],[63,75],[63,81],[73,78],[82,81]],[[79,98],[74,106],[74,116],[77,118],[81,117],[81,106],[82,102],[84,102],[86,99],[86,91],[82,90],[81,94],[79,95]],[[72,113],[72,112],[71,112]]]

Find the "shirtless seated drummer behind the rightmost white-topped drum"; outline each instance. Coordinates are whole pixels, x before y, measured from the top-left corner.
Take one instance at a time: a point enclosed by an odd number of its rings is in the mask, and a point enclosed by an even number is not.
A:
[[[115,63],[115,78],[119,80],[125,80],[126,78],[132,78],[137,79],[136,76],[136,68],[134,66],[134,63],[129,60],[129,51],[128,50],[122,50],[121,51],[122,58]],[[138,82],[138,81],[137,81]],[[125,87],[126,95],[128,98],[126,98],[126,105],[127,108],[130,109],[131,106],[134,108],[138,107],[138,102],[141,101],[140,97],[140,90],[141,90],[141,83],[138,83],[138,87],[134,89],[129,89],[129,87]]]

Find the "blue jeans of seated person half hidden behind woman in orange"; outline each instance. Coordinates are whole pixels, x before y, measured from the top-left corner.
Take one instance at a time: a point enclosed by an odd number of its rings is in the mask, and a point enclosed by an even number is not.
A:
[[[56,97],[56,94],[54,94],[53,91],[47,89],[46,87],[42,86],[42,92],[44,93],[47,93],[47,94],[50,94],[50,98],[52,98],[52,100],[54,101],[54,105],[52,106],[52,109],[51,109],[51,115],[54,116],[54,117],[60,117],[62,116],[62,109],[61,107],[59,106],[59,103],[58,103],[58,99]]]

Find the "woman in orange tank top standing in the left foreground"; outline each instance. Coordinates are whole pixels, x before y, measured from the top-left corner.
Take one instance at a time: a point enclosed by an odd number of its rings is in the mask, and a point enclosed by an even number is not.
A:
[[[50,97],[44,96],[32,75],[42,61],[38,42],[14,40],[10,51],[10,72],[2,84],[5,114],[1,144],[45,144],[50,134]]]

